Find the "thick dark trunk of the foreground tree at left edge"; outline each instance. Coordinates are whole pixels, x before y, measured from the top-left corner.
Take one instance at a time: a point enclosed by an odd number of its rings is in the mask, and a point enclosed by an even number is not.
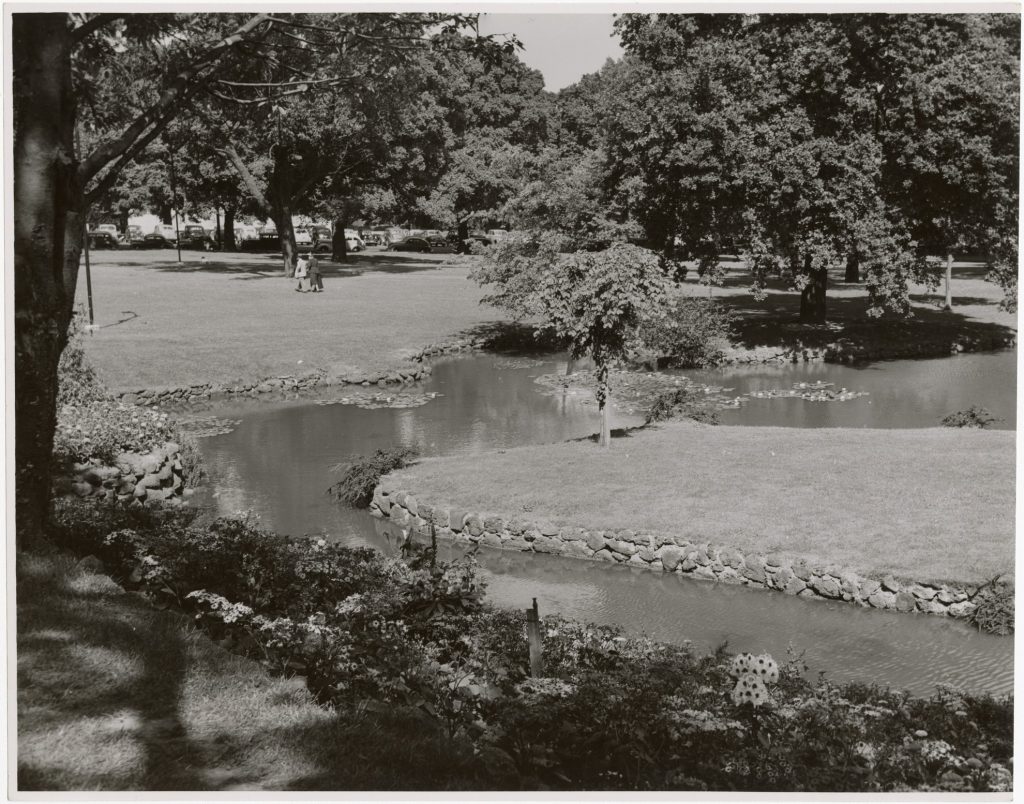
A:
[[[20,546],[43,539],[83,236],[76,177],[71,38],[65,14],[17,13],[14,76],[14,455]]]

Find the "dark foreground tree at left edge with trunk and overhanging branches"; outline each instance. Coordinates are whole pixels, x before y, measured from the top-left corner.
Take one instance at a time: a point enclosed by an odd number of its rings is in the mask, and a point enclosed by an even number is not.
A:
[[[12,15],[14,110],[14,383],[16,520],[42,537],[50,485],[56,371],[68,338],[89,206],[201,94],[260,104],[337,88],[349,48],[410,53],[475,25],[466,14]],[[378,38],[387,29],[389,36]],[[481,47],[493,42],[480,40]],[[502,47],[513,46],[505,43]],[[308,53],[319,58],[308,58]],[[300,57],[296,57],[296,55]],[[259,65],[259,80],[247,75]],[[341,64],[344,64],[342,60]],[[136,102],[102,105],[133,81]],[[100,101],[87,153],[76,149],[80,100]],[[96,107],[99,110],[100,107]]]

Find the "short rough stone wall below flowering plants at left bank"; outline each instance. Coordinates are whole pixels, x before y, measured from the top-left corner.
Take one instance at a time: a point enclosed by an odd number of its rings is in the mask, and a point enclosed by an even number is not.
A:
[[[110,502],[143,505],[180,505],[190,497],[178,445],[165,443],[148,453],[122,453],[106,465],[100,461],[77,463],[70,476],[53,481],[54,495],[94,497]]]

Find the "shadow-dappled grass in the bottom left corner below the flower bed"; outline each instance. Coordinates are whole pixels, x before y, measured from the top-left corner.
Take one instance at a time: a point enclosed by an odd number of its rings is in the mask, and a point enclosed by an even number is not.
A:
[[[474,789],[402,710],[336,714],[65,557],[17,556],[20,791]]]

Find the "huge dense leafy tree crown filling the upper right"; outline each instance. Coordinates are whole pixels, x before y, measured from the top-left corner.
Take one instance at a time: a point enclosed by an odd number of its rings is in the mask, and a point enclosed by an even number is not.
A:
[[[1009,242],[1019,30],[1001,15],[626,15],[609,127],[620,189],[701,267],[735,241],[825,320],[827,269],[864,272],[868,312],[909,311],[929,228]],[[632,105],[631,105],[632,101]],[[639,179],[638,179],[639,177]],[[1016,224],[1014,224],[1016,225]],[[991,226],[988,227],[989,229]],[[947,241],[948,242],[948,241]]]

